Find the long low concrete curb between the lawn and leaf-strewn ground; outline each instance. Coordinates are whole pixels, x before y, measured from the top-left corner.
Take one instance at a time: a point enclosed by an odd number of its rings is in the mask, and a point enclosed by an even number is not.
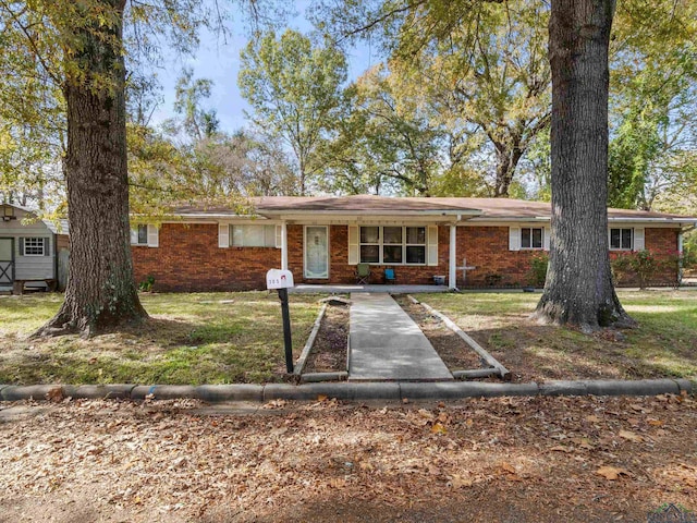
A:
[[[196,399],[209,403],[271,400],[314,401],[319,397],[347,401],[457,400],[502,396],[658,396],[690,394],[688,379],[547,381],[545,384],[489,384],[473,381],[309,382],[304,385],[0,385],[0,401],[46,400],[60,389],[63,397],[80,399],[156,400]]]

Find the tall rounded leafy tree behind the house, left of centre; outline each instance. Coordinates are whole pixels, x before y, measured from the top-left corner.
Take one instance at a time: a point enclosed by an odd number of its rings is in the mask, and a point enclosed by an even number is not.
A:
[[[343,52],[330,40],[313,46],[301,33],[269,32],[253,39],[241,53],[239,84],[252,105],[252,120],[269,137],[293,151],[299,194],[322,172],[319,150],[341,112],[341,88],[346,81]]]

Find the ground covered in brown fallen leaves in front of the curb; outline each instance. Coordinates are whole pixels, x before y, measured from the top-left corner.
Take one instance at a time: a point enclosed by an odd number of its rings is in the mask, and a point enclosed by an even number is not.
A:
[[[0,403],[0,522],[609,522],[697,509],[692,398]]]

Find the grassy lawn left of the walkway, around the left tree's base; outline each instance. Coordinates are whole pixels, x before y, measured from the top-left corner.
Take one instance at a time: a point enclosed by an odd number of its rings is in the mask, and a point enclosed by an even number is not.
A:
[[[278,295],[268,292],[142,294],[151,318],[83,340],[27,340],[61,294],[0,296],[0,384],[225,384],[278,381],[285,372]],[[290,297],[297,357],[318,296]]]

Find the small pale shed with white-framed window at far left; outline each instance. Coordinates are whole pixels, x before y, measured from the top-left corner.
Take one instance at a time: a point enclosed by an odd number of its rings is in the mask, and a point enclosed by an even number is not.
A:
[[[0,291],[56,289],[58,253],[69,248],[68,220],[37,220],[30,209],[0,204]]]

